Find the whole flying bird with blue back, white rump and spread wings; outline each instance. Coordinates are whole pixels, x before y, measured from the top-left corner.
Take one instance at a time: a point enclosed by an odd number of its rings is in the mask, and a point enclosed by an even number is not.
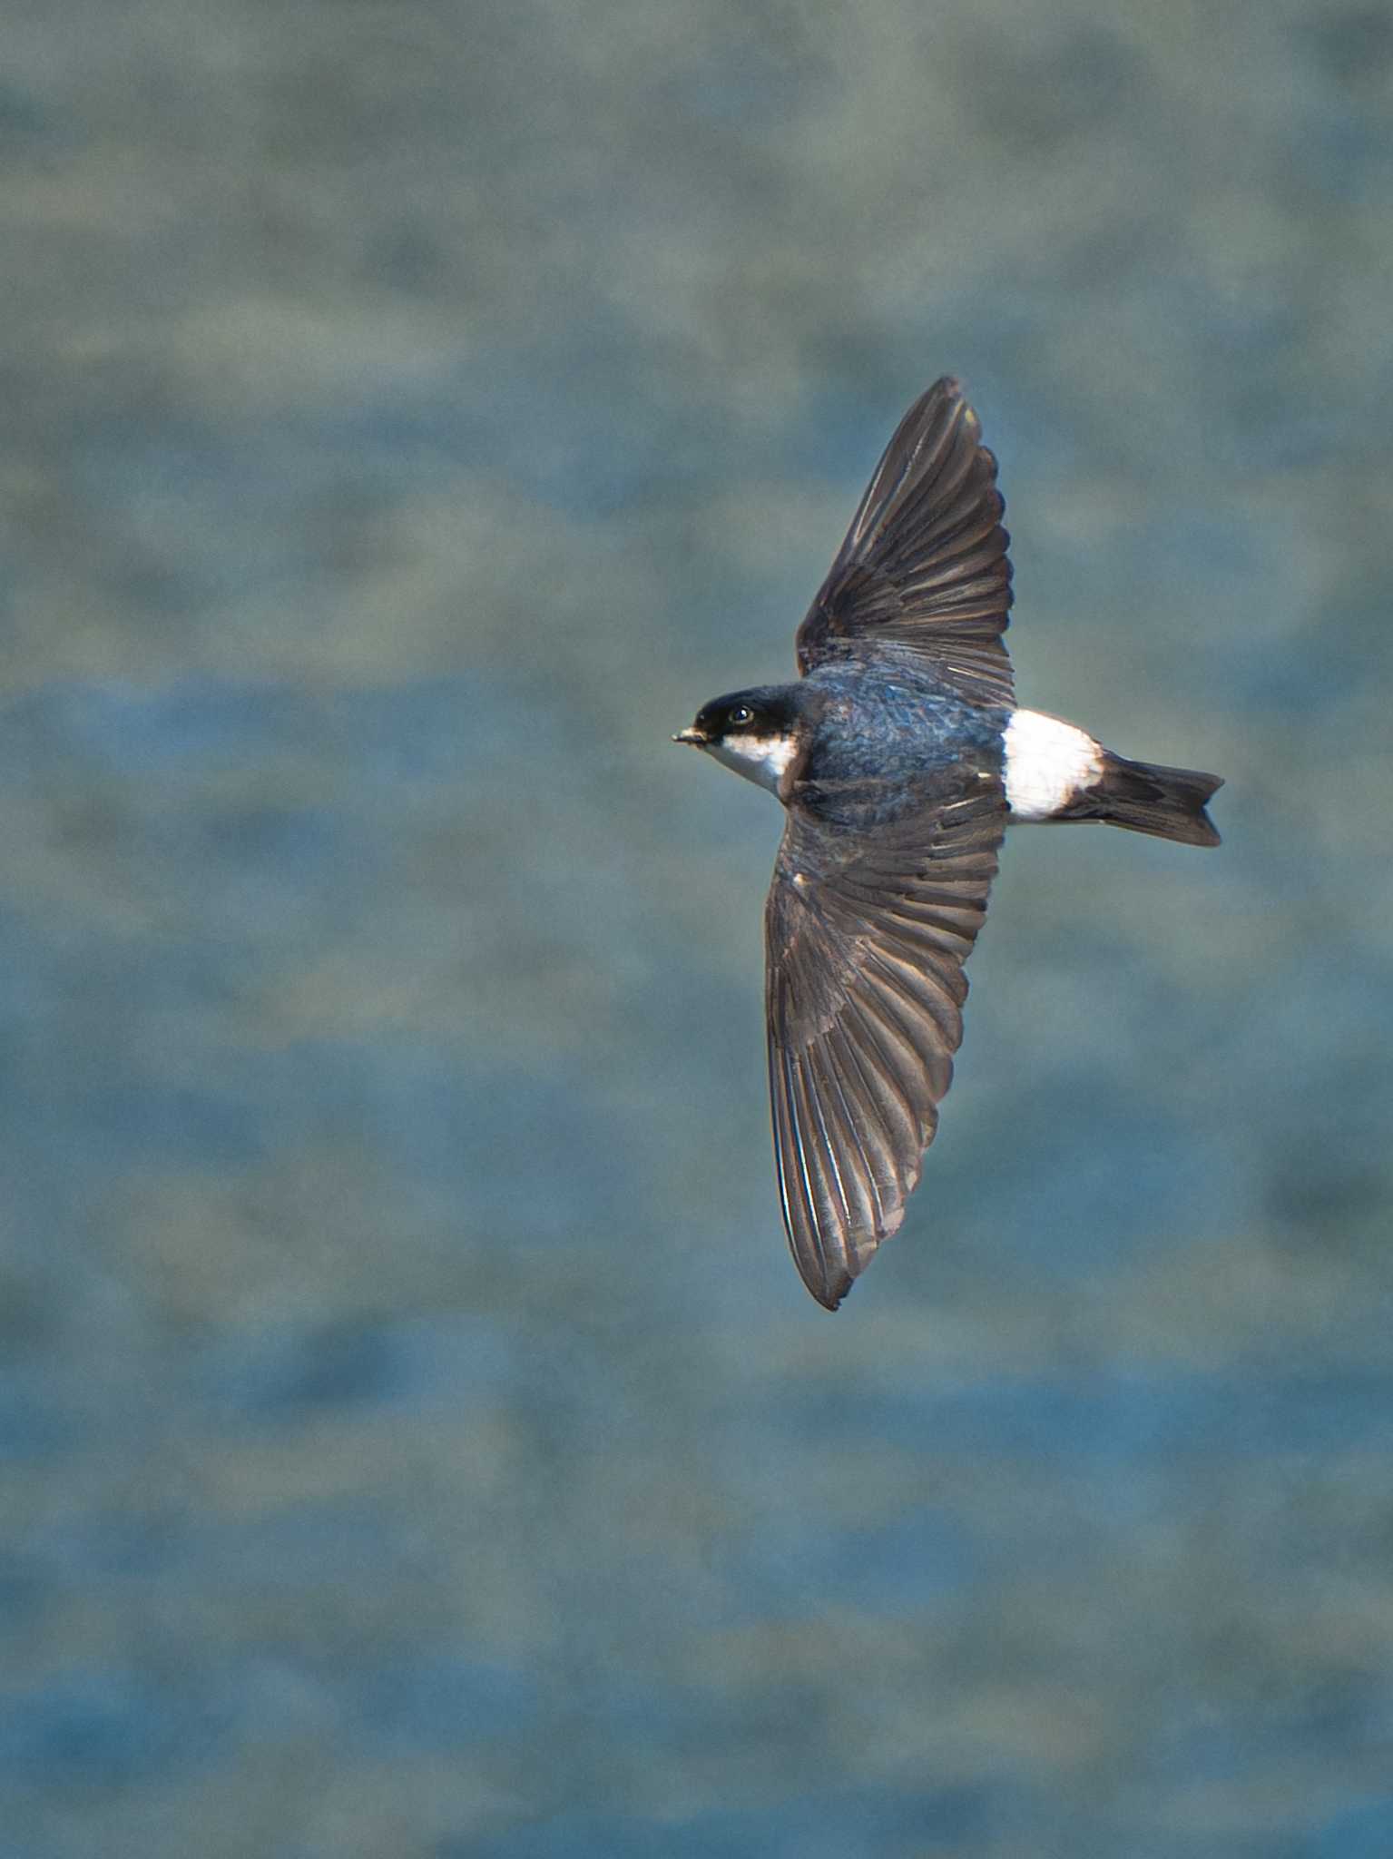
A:
[[[1007,827],[1218,844],[1218,775],[1016,705],[996,480],[944,376],[875,467],[799,626],[797,682],[715,697],[672,738],[784,805],[765,905],[775,1164],[793,1262],[828,1311],[919,1182]]]

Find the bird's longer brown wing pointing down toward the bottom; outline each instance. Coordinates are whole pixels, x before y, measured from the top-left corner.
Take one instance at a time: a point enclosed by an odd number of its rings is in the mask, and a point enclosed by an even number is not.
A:
[[[953,1080],[1001,783],[851,840],[789,809],[765,913],[775,1156],[793,1259],[836,1311],[905,1218]]]

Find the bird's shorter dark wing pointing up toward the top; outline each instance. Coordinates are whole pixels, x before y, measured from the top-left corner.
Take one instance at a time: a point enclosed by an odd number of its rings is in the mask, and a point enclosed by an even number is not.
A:
[[[996,459],[949,376],[899,422],[832,573],[799,626],[799,671],[854,641],[895,641],[932,660],[973,703],[1014,703],[1001,634],[1010,537]]]

